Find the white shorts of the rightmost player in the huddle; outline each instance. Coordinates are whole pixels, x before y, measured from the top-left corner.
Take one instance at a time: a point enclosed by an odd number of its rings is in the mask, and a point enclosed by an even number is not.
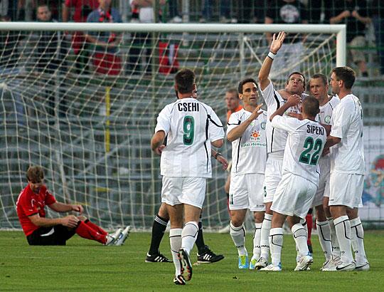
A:
[[[331,178],[329,179],[329,206],[363,207],[363,202],[361,201],[363,187],[363,174],[331,173]]]

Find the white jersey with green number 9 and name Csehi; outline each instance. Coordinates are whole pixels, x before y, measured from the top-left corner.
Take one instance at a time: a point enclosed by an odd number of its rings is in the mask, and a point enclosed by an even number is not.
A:
[[[167,135],[161,153],[161,175],[211,177],[210,142],[223,139],[220,119],[208,105],[182,98],[159,113],[155,132]]]

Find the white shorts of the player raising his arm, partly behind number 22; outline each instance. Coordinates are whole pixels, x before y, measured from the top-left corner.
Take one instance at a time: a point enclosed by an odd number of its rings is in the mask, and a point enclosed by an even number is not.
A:
[[[264,202],[273,202],[274,192],[282,179],[282,160],[276,160],[270,156],[265,165],[264,178]]]

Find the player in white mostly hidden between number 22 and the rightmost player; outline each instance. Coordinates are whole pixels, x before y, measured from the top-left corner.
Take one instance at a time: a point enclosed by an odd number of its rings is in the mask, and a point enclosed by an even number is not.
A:
[[[331,131],[332,112],[340,100],[336,96],[328,94],[328,78],[324,74],[315,74],[309,80],[311,95],[319,100],[320,113],[319,122],[325,127],[329,134]],[[331,170],[331,158],[329,153],[324,153],[319,160],[320,180],[312,206],[316,210],[316,226],[319,234],[321,249],[326,261],[323,264],[324,271],[340,260],[340,248],[336,236],[334,219],[329,212],[329,175]]]

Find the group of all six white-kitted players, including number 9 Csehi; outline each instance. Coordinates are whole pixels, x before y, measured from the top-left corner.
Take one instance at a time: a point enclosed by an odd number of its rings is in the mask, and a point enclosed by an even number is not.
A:
[[[334,68],[333,97],[322,74],[309,80],[311,95],[304,93],[305,78],[299,72],[289,75],[283,90],[275,90],[268,76],[284,38],[284,32],[273,36],[259,85],[252,78],[240,81],[243,108],[228,121],[227,139],[233,146],[230,236],[238,249],[238,268],[281,271],[282,226],[287,219],[297,246],[295,271],[309,269],[313,258],[304,218],[315,207],[326,258],[322,270],[366,271],[370,266],[358,217],[364,175],[363,117],[361,104],[351,93],[355,74],[348,67]],[[184,285],[192,277],[190,252],[199,231],[206,178],[211,176],[211,145],[223,145],[224,131],[212,108],[194,96],[192,71],[176,74],[175,90],[178,100],[159,113],[151,148],[161,155],[161,202],[171,223],[174,283]],[[257,104],[260,93],[267,112]],[[250,261],[243,225],[247,209],[255,217]]]

